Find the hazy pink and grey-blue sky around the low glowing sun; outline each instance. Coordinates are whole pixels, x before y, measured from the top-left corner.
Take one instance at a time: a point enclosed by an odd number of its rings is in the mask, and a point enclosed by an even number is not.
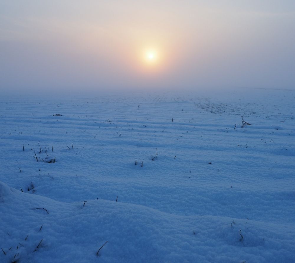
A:
[[[295,1],[0,0],[0,67],[0,90],[294,89]]]

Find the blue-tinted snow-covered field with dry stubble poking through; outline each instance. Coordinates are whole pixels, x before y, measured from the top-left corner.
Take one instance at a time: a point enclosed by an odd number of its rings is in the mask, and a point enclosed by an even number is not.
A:
[[[294,96],[1,98],[0,262],[293,262]]]

